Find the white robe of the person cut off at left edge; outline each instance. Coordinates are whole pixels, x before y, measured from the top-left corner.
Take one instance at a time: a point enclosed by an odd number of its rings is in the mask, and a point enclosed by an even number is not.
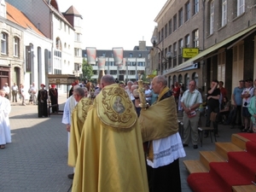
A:
[[[7,98],[0,96],[0,145],[11,143],[11,132],[9,128],[10,102]]]

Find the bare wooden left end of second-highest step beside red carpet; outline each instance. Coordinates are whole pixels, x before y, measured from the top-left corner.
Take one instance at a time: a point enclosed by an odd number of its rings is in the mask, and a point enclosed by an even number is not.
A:
[[[234,143],[215,143],[215,151],[228,160],[228,153],[230,151],[244,151],[244,149],[238,147]]]

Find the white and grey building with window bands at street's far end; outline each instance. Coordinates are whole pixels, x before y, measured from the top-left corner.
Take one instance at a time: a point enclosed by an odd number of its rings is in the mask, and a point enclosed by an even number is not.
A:
[[[106,58],[105,74],[111,74],[115,79],[135,81],[150,72],[146,73],[146,68],[149,67],[148,55],[150,53],[151,46],[146,46],[145,41],[139,41],[139,45],[135,46],[133,50],[123,51],[123,67],[118,69],[118,66],[114,65],[113,50],[112,49],[96,49],[96,65],[93,65],[92,77],[96,82],[99,76],[99,68],[97,60],[99,57]],[[83,50],[84,59],[87,60],[86,49]]]

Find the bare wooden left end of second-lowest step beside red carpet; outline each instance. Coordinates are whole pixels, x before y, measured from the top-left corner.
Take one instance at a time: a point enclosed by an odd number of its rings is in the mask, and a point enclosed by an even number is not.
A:
[[[210,170],[209,163],[224,162],[226,160],[216,151],[200,151],[200,161],[207,167],[207,170]]]

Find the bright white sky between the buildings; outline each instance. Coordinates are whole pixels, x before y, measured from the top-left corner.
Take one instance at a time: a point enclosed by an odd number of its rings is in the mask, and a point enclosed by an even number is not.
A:
[[[61,12],[74,6],[83,17],[83,44],[96,49],[122,47],[131,50],[150,39],[154,19],[167,0],[57,0]]]

